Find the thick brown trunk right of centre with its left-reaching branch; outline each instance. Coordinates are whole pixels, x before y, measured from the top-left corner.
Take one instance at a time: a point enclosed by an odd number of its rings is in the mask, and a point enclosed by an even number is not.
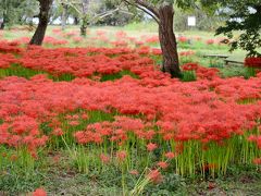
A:
[[[173,77],[181,77],[177,42],[173,30],[174,0],[123,0],[149,14],[159,24],[159,38],[163,54],[162,70]]]

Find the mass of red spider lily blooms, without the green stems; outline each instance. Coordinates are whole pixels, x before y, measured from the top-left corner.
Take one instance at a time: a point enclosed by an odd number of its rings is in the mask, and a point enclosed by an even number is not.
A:
[[[119,33],[119,36],[126,35]],[[111,114],[116,111],[117,115],[112,122],[87,124],[82,130],[74,127],[89,118],[86,113],[65,115],[66,126],[74,130],[73,138],[78,144],[124,146],[135,138],[151,154],[162,144],[173,142],[176,143],[173,151],[164,150],[163,157],[174,159],[186,150],[188,142],[202,144],[202,150],[207,150],[208,144],[222,146],[256,128],[258,134],[253,133],[248,140],[260,148],[261,75],[250,79],[221,78],[216,69],[188,63],[183,69],[195,71],[198,81],[183,83],[156,69],[147,57],[149,48],[29,47],[21,50],[1,45],[1,51],[5,52],[1,54],[3,70],[16,62],[30,70],[52,75],[66,73],[76,78],[59,83],[45,75],[0,79],[0,145],[25,146],[35,154],[51,138],[67,134],[61,114],[98,110]],[[21,57],[15,59],[13,52]],[[124,76],[104,83],[91,79],[97,73],[113,74],[123,70],[139,78]],[[241,105],[246,100],[250,100],[248,105]],[[48,123],[51,131],[46,133],[39,128],[42,123]],[[116,157],[123,161],[127,152],[119,150]],[[105,155],[100,155],[100,159],[110,161]],[[169,163],[160,161],[157,166],[165,169]],[[149,176],[156,182],[161,179],[158,170]]]

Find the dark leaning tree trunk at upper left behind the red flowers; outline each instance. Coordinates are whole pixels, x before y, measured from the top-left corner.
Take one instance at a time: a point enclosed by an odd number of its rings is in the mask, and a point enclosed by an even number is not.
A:
[[[29,45],[41,45],[46,35],[46,29],[49,21],[49,11],[52,0],[38,0],[40,2],[39,24],[30,39]]]

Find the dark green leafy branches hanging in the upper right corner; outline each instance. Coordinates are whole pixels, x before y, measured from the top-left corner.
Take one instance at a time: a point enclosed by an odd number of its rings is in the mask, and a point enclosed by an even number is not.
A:
[[[248,51],[248,57],[261,57],[258,50],[261,48],[261,0],[223,0],[216,4],[220,13],[228,17],[216,35],[224,34],[233,39],[231,51],[241,48]]]

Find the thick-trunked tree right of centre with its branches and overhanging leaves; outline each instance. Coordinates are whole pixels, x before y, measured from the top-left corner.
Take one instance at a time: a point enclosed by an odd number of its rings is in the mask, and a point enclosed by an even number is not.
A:
[[[173,77],[181,77],[177,42],[173,29],[174,8],[182,10],[207,10],[212,11],[219,7],[219,0],[123,0],[126,4],[136,7],[149,14],[159,25],[159,38],[163,56],[162,70]],[[232,0],[233,1],[233,0]],[[235,1],[235,0],[234,0]],[[225,2],[225,0],[224,0]],[[231,2],[233,3],[233,2]]]

